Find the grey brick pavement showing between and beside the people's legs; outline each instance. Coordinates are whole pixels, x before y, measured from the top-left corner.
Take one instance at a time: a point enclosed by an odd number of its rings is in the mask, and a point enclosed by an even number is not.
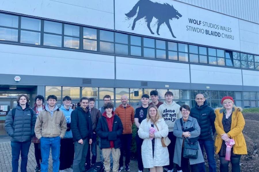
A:
[[[99,148],[97,148],[97,161],[100,160]],[[19,159],[19,168],[20,168],[21,159]],[[27,163],[27,172],[34,172],[36,167],[36,161],[34,156],[34,145],[33,143],[30,146],[28,154],[28,163]],[[138,163],[136,160],[131,160],[129,163],[131,172],[138,172]],[[123,170],[124,171],[123,167]],[[0,172],[12,172],[12,149],[10,138],[0,138]],[[20,172],[20,169],[18,170]],[[49,155],[49,169],[48,172],[52,172],[52,156]],[[144,169],[143,172],[148,172],[147,169]]]

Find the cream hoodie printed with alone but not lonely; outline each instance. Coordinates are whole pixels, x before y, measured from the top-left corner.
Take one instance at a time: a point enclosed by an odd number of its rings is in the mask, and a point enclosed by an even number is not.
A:
[[[180,112],[180,105],[173,101],[170,105],[166,102],[159,106],[158,108],[160,115],[164,118],[165,123],[168,125],[169,132],[173,132],[175,120],[182,118]]]

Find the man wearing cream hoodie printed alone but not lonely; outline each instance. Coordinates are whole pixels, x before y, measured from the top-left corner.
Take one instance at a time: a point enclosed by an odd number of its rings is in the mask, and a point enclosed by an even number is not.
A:
[[[165,101],[162,105],[159,106],[158,110],[162,118],[164,118],[165,123],[168,125],[168,138],[171,140],[171,143],[167,146],[169,152],[169,165],[165,167],[167,172],[172,172],[174,168],[174,147],[176,142],[176,136],[174,136],[174,123],[177,119],[182,118],[180,112],[180,105],[176,104],[174,99],[174,94],[171,91],[165,93]],[[177,166],[176,166],[177,167]],[[180,167],[177,167],[177,170],[180,171]]]

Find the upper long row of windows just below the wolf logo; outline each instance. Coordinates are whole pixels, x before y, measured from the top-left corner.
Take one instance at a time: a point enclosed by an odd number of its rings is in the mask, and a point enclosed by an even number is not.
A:
[[[0,13],[0,40],[259,70],[259,56]]]

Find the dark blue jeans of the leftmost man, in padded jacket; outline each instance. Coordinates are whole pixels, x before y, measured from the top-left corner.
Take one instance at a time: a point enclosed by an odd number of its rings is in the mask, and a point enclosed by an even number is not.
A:
[[[27,172],[28,153],[31,141],[29,142],[11,142],[12,147],[12,172],[18,171],[19,157],[21,153],[21,172]]]

